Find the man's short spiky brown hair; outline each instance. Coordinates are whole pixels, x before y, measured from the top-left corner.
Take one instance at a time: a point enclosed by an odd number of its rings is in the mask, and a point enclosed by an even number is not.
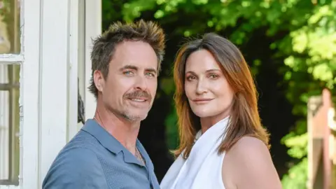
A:
[[[139,20],[132,23],[113,23],[107,31],[93,40],[91,52],[92,74],[89,90],[94,97],[98,97],[98,90],[94,85],[93,73],[102,71],[106,79],[109,73],[109,63],[116,50],[116,45],[125,40],[144,41],[151,45],[158,57],[158,71],[165,55],[165,33],[155,22]]]

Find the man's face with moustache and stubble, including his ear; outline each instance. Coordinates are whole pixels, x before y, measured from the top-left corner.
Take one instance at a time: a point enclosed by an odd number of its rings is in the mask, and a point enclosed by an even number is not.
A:
[[[158,58],[151,45],[123,41],[116,46],[106,80],[100,71],[95,71],[94,83],[106,109],[132,122],[141,121],[153,104],[158,87],[157,70]]]

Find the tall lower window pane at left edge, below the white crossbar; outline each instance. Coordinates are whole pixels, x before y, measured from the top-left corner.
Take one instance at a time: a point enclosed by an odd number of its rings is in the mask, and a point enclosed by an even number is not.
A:
[[[18,185],[20,65],[0,64],[0,185]]]

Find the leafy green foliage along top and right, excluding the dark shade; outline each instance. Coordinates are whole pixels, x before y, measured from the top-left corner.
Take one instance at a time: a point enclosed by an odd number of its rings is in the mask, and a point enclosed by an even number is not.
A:
[[[316,0],[132,0],[123,1],[121,10],[114,10],[113,3],[103,1],[106,17],[132,21],[141,14],[152,14],[169,28],[172,36],[195,36],[204,31],[228,34],[237,45],[244,45],[257,29],[266,28],[265,35],[274,37],[269,48],[274,59],[284,59],[279,69],[283,83],[287,84],[286,97],[294,105],[293,114],[300,116],[293,131],[283,138],[288,154],[300,160],[283,177],[283,188],[305,188],[307,180],[307,100],[321,94],[323,87],[334,90],[336,83],[336,1]],[[120,15],[121,13],[121,15]],[[187,18],[181,25],[177,20]],[[228,31],[230,30],[230,32]],[[258,44],[256,44],[258,45]],[[267,64],[255,59],[252,71],[258,74],[258,66]],[[162,80],[166,94],[174,87],[169,78]],[[281,84],[281,83],[279,83]],[[163,84],[162,84],[163,85]],[[166,120],[169,148],[177,145],[176,113]]]

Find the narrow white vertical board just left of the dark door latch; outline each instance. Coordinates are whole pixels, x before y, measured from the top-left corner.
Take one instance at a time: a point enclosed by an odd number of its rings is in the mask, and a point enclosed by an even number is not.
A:
[[[69,0],[69,121],[67,139],[69,141],[78,132],[77,117],[78,117],[78,0]]]

